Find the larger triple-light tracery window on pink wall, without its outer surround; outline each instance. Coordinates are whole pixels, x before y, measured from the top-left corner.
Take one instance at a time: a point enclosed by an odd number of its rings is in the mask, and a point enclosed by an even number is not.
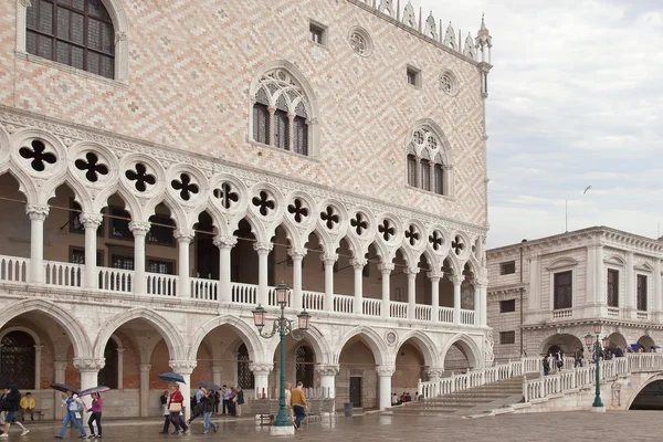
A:
[[[269,70],[253,91],[252,139],[298,155],[312,155],[313,110],[304,86],[288,70]]]

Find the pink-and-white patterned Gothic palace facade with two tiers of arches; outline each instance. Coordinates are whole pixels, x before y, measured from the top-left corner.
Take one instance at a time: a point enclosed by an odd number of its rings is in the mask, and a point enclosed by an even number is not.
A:
[[[164,371],[386,408],[492,364],[492,39],[394,3],[3,2],[0,380],[157,415]]]

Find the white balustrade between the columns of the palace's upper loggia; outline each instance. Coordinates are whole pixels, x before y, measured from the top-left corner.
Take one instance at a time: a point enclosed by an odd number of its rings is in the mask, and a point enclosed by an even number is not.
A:
[[[85,265],[63,263],[56,261],[44,261],[44,284],[61,286],[70,290],[91,290],[85,282]],[[30,259],[0,255],[0,282],[27,283],[30,281]],[[152,296],[178,297],[186,291],[180,287],[178,275],[145,273],[145,293]],[[135,273],[130,270],[110,269],[98,266],[96,269],[96,281],[93,284],[96,290],[118,294],[134,294],[136,290]],[[198,301],[221,302],[225,297],[222,293],[221,282],[218,280],[204,280],[190,277],[188,282],[188,297]],[[94,290],[94,288],[92,288]],[[243,284],[233,282],[230,284],[230,293],[227,295],[231,304],[255,306],[259,303],[259,286],[255,284]],[[276,294],[274,287],[267,287],[267,305],[276,306]],[[287,307],[294,307],[294,292],[287,301]],[[311,312],[325,312],[326,294],[320,292],[303,291],[301,307]],[[409,305],[403,302],[390,301],[383,303],[381,298],[361,298],[356,305],[352,295],[334,294],[332,308],[336,314],[360,315],[367,317],[388,317],[393,319],[409,319]],[[453,324],[454,309],[452,307],[439,307],[433,311],[430,305],[414,305],[414,320],[433,322],[434,315],[440,323]],[[411,319],[411,318],[410,318]],[[460,324],[475,325],[474,311],[461,311]]]

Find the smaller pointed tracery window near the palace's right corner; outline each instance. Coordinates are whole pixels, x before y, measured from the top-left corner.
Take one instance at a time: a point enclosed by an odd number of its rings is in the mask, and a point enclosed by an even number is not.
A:
[[[407,149],[408,186],[452,194],[453,175],[443,137],[428,125],[417,127]]]

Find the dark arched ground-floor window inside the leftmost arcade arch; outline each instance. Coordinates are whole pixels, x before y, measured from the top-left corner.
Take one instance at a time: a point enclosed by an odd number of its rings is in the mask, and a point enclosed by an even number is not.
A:
[[[19,389],[34,389],[34,339],[25,332],[10,332],[0,341],[0,385],[15,382]]]

